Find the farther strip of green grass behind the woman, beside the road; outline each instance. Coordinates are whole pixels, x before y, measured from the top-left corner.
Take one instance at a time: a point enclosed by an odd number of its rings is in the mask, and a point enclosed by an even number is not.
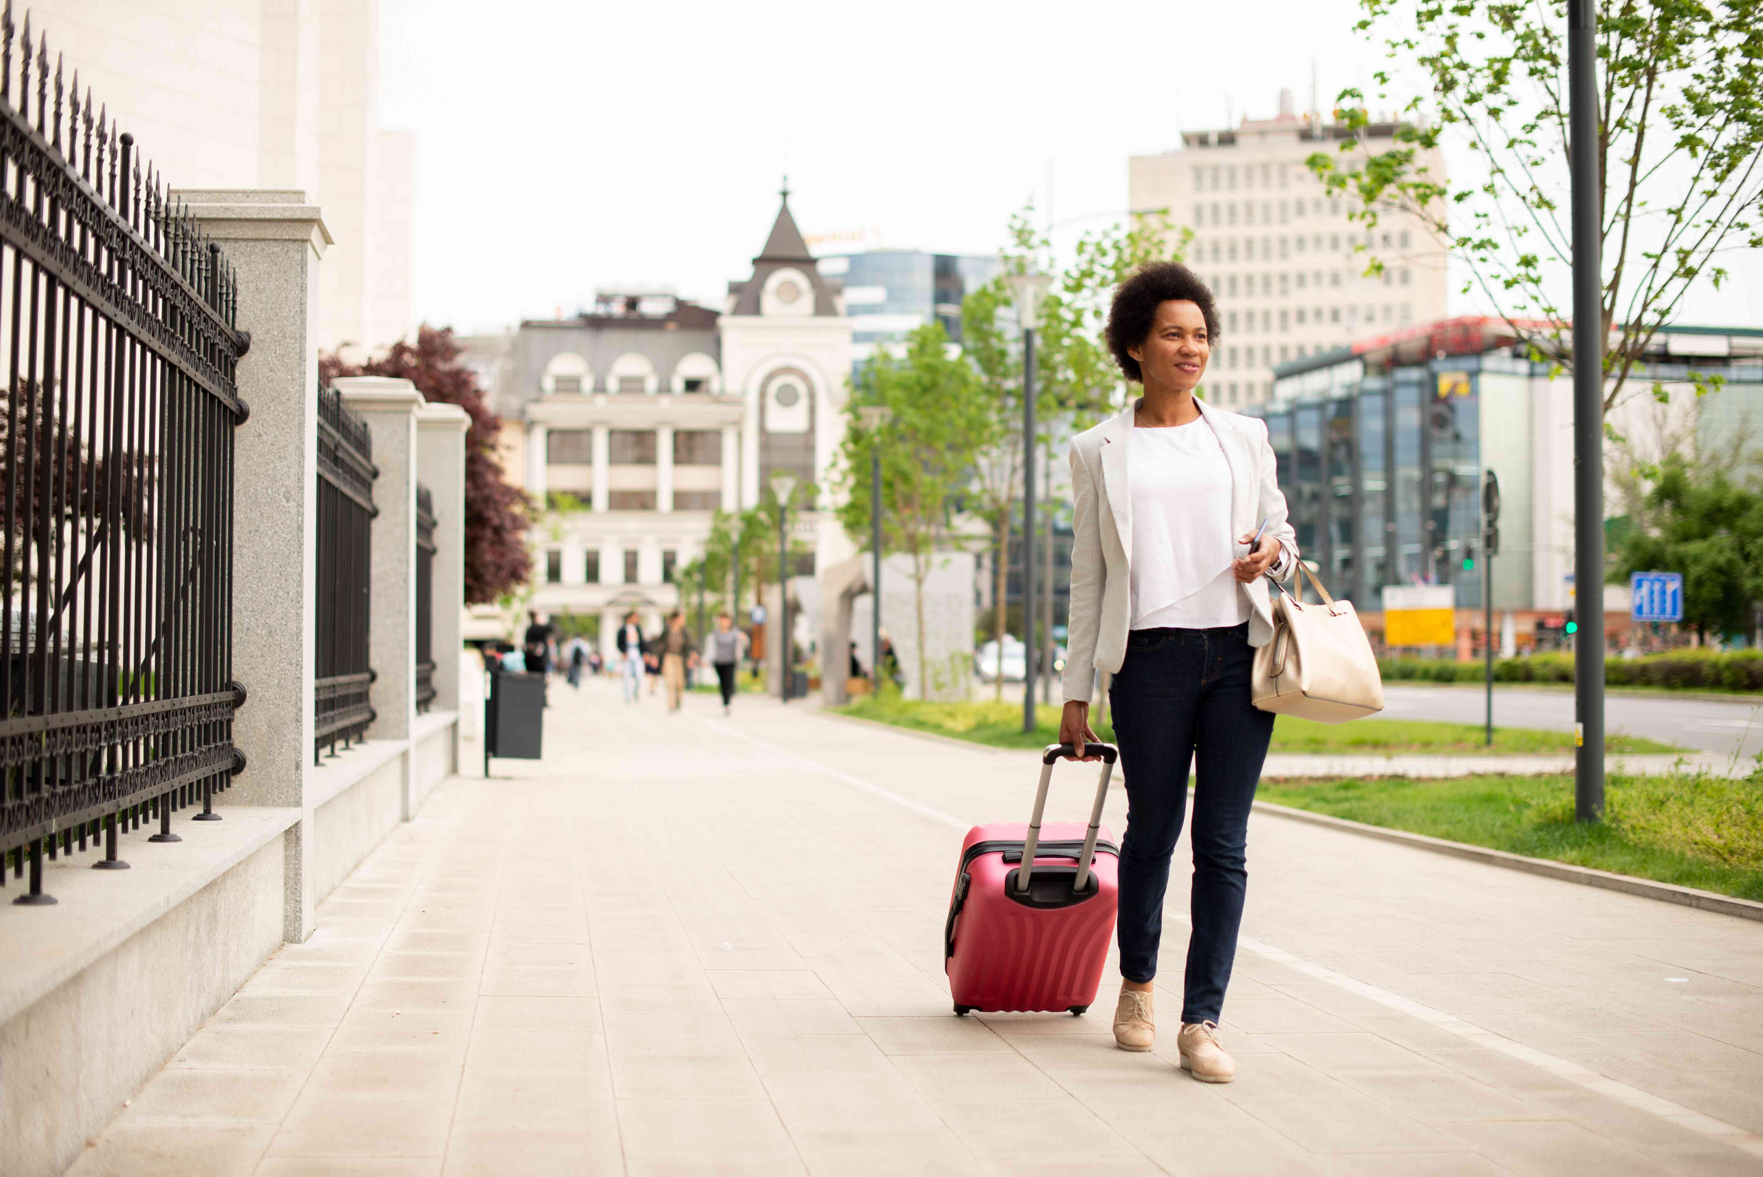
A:
[[[1060,708],[1042,705],[1035,714],[1035,731],[1023,733],[1021,703],[919,703],[897,694],[857,700],[837,708],[846,715],[878,719],[917,731],[989,744],[993,747],[1045,747],[1058,738]],[[1104,740],[1114,738],[1109,724],[1095,728]],[[1573,737],[1566,731],[1536,731],[1530,728],[1495,728],[1493,747],[1484,742],[1479,724],[1442,724],[1409,719],[1359,719],[1350,724],[1319,724],[1306,719],[1280,715],[1273,726],[1275,752],[1451,752],[1451,754],[1571,754]],[[1655,740],[1615,735],[1610,737],[1613,754],[1675,752],[1678,749]]]

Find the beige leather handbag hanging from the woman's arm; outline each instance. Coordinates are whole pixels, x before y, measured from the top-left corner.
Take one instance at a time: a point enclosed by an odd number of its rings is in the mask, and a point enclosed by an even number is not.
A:
[[[1384,710],[1384,678],[1352,601],[1336,601],[1303,564],[1298,596],[1278,587],[1273,640],[1255,650],[1252,698],[1264,712],[1343,724]],[[1305,604],[1305,581],[1320,603]]]

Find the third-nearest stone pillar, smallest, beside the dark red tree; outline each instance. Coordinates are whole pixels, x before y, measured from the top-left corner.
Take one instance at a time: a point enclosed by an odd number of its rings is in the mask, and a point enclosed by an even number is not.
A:
[[[460,710],[460,650],[465,622],[465,432],[471,418],[458,405],[432,403],[416,411],[416,481],[435,507],[435,553],[430,564],[428,648],[435,659],[437,712]]]

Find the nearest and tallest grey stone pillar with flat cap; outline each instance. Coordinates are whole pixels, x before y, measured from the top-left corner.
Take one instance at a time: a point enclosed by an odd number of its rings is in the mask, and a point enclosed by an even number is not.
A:
[[[282,934],[312,936],[312,668],[317,626],[317,266],[330,231],[305,192],[175,192],[238,271],[238,326],[250,351],[234,432],[233,675],[247,701],[233,722],[245,772],[233,805],[298,807],[282,835]]]

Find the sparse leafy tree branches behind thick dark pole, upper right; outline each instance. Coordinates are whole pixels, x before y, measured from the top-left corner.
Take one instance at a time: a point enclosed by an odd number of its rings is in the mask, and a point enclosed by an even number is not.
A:
[[[1419,67],[1423,97],[1395,143],[1359,136],[1317,152],[1312,171],[1370,231],[1416,217],[1470,273],[1537,359],[1573,366],[1560,303],[1573,261],[1567,201],[1569,0],[1359,0],[1358,28]],[[1763,0],[1597,0],[1597,192],[1603,240],[1604,412],[1685,292],[1726,278],[1724,252],[1763,245]],[[1375,74],[1384,97],[1393,74]],[[1365,95],[1340,102],[1356,132]],[[1479,174],[1447,181],[1428,159],[1462,139]],[[1456,224],[1453,224],[1453,220]],[[1370,234],[1368,234],[1370,238]],[[1382,259],[1368,243],[1368,273]],[[1696,391],[1719,377],[1691,377]],[[1633,391],[1633,389],[1629,389]],[[1652,393],[1668,398],[1663,384]]]

